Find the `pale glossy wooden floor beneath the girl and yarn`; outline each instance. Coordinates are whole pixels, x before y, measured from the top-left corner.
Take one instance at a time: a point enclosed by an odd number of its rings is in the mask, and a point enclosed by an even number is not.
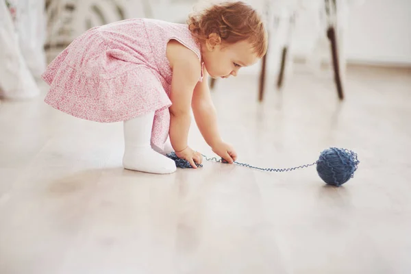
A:
[[[257,85],[213,93],[239,162],[298,166],[345,147],[355,177],[334,188],[314,166],[127,171],[121,123],[75,119],[44,95],[2,101],[0,273],[411,273],[411,71],[350,67],[343,103],[309,73],[262,104]],[[213,155],[194,126],[190,144]]]

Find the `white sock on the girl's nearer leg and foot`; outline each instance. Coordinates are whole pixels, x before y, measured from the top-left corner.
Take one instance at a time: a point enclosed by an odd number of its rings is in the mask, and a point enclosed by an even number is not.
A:
[[[125,169],[147,173],[167,174],[176,170],[175,162],[151,149],[151,129],[154,112],[124,121]]]

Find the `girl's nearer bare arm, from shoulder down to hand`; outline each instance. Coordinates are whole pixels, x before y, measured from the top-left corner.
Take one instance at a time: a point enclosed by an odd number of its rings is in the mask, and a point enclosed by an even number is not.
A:
[[[194,52],[178,42],[171,41],[167,47],[173,69],[170,99],[170,140],[177,155],[182,156],[192,167],[197,168],[194,162],[201,164],[201,157],[188,147],[188,130],[191,121],[192,92],[201,75],[200,61]]]

